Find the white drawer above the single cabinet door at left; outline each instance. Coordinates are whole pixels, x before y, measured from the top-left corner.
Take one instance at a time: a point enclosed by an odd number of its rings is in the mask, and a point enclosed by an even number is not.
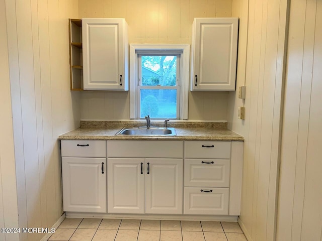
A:
[[[106,141],[61,141],[62,157],[106,157]]]

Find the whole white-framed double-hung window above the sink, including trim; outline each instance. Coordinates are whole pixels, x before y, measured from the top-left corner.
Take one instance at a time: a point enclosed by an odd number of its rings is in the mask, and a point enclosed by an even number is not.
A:
[[[130,44],[130,118],[188,118],[189,54],[189,44]]]

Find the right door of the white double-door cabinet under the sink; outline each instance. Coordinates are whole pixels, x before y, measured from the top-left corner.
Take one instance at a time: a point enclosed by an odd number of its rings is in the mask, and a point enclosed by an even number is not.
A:
[[[145,159],[145,213],[182,214],[183,159]]]

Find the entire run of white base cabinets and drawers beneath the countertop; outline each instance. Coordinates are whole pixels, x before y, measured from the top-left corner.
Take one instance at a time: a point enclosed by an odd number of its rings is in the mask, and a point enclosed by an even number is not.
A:
[[[61,141],[63,210],[240,213],[243,142]]]

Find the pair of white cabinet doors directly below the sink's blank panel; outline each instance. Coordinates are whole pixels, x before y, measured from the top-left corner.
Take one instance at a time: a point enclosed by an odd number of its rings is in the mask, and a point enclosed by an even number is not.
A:
[[[183,159],[108,158],[108,212],[182,214]]]

